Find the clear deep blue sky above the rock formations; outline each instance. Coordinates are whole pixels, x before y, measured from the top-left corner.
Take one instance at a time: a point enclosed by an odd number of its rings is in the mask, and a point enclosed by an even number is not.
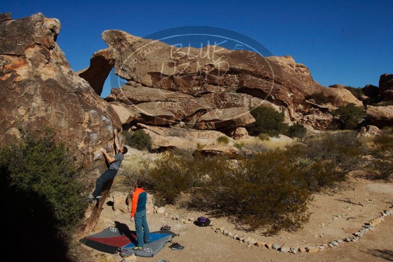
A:
[[[106,48],[106,29],[145,36],[176,26],[217,26],[255,39],[274,55],[293,56],[326,86],[378,85],[380,75],[393,73],[393,0],[14,0],[3,2],[0,12],[14,19],[37,12],[58,18],[57,42],[74,71]]]

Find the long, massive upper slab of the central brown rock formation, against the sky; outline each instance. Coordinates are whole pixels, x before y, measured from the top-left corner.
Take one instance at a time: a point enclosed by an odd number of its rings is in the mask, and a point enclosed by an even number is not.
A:
[[[115,74],[142,86],[193,96],[235,91],[286,107],[322,88],[289,56],[265,58],[217,46],[176,49],[120,30],[105,31],[103,39],[118,57]]]

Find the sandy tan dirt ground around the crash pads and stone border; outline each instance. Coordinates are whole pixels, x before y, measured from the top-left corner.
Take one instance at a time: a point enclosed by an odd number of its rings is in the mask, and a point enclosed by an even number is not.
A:
[[[344,202],[349,200],[353,203]],[[314,195],[310,202],[310,220],[296,232],[280,232],[276,236],[261,236],[258,232],[243,232],[236,229],[227,218],[212,218],[214,228],[224,227],[228,231],[251,236],[264,242],[280,243],[289,247],[317,246],[332,240],[351,236],[359,231],[365,222],[376,218],[380,212],[393,203],[393,183],[372,182],[363,178],[350,178],[336,189],[325,190]],[[362,206],[363,205],[363,206]],[[207,215],[203,212],[165,207],[169,214],[183,217]],[[105,205],[100,220],[93,233],[100,232],[114,221],[125,223],[134,230],[129,221],[129,213],[117,214],[111,206]],[[182,251],[175,251],[166,245],[154,258],[140,258],[137,261],[194,262],[194,261],[393,261],[393,216],[388,216],[374,231],[360,238],[358,242],[341,243],[338,247],[327,248],[316,253],[281,253],[257,246],[246,247],[229,236],[214,233],[210,227],[199,228],[193,224],[183,224],[160,214],[148,214],[151,231],[162,225],[169,225],[172,231],[180,234],[174,238],[185,246]],[[87,248],[87,247],[86,247]],[[88,248],[91,250],[91,248]],[[108,255],[93,251],[97,258],[106,261],[121,261],[118,255]]]

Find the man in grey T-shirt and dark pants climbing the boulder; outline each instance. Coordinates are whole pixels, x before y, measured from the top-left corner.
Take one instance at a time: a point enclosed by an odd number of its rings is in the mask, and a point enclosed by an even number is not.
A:
[[[117,131],[113,130],[113,133],[114,133],[114,140],[115,140],[114,148],[115,148],[116,155],[114,157],[110,157],[105,149],[101,150],[110,165],[109,168],[104,173],[102,173],[101,176],[96,180],[96,189],[91,195],[88,196],[88,198],[91,201],[93,201],[94,199],[97,200],[101,199],[102,197],[101,191],[105,183],[115,178],[117,171],[119,171],[120,165],[123,161],[124,154],[126,154],[128,151],[125,146],[120,147]]]

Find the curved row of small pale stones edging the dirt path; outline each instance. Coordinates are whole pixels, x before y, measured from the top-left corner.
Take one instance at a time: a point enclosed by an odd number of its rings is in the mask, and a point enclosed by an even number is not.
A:
[[[392,209],[393,206],[391,206],[390,208]],[[184,224],[192,224],[193,221],[196,220],[196,218],[193,218],[193,217],[182,218],[180,215],[176,215],[176,214],[170,215],[170,214],[168,214],[168,212],[165,212],[165,209],[163,207],[161,207],[159,209],[157,207],[154,207],[154,209],[155,209],[156,213],[163,214],[166,217],[169,217],[173,220],[177,220],[177,221],[184,223]],[[363,225],[363,228],[361,230],[353,233],[351,236],[348,236],[343,239],[333,240],[333,241],[330,241],[330,242],[322,244],[322,245],[317,245],[317,246],[310,245],[307,247],[298,247],[298,246],[289,247],[289,246],[284,246],[284,245],[282,246],[278,243],[259,241],[254,238],[251,238],[250,236],[246,236],[243,234],[242,235],[234,234],[223,227],[215,228],[213,223],[210,224],[210,228],[214,229],[214,232],[216,232],[216,233],[223,234],[224,236],[232,237],[233,239],[236,239],[240,242],[247,244],[247,247],[258,246],[258,247],[264,247],[264,248],[267,248],[270,250],[276,250],[279,252],[288,252],[288,253],[292,253],[292,254],[297,254],[298,252],[313,253],[313,252],[323,251],[328,248],[337,247],[338,245],[340,245],[343,242],[357,242],[361,237],[365,236],[368,231],[373,231],[379,223],[384,221],[385,217],[392,216],[392,215],[393,215],[393,210],[384,210],[383,212],[381,212],[381,215],[379,215],[377,218],[371,219],[370,221],[366,222]]]

